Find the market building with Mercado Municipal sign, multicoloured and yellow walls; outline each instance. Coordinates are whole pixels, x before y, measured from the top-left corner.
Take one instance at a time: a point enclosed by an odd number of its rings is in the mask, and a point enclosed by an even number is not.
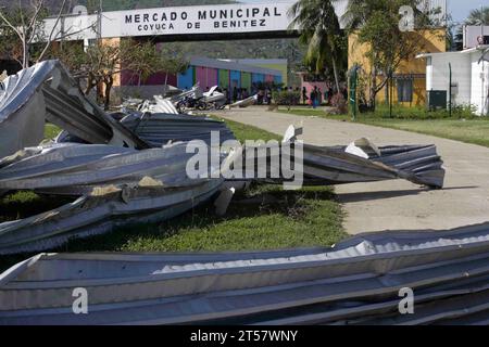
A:
[[[290,25],[292,18],[289,9],[296,0],[279,0],[273,3],[233,3],[218,5],[171,7],[156,9],[138,9],[129,11],[111,11],[100,14],[88,14],[86,8],[75,7],[72,15],[61,21],[47,18],[45,30],[57,33],[53,40],[83,41],[85,46],[101,42],[116,46],[123,40],[135,38],[151,40],[154,44],[175,41],[206,40],[243,40],[267,38],[293,38],[300,33]],[[444,0],[426,0],[429,9],[440,8],[440,17],[446,13]],[[341,18],[348,0],[335,2],[337,15]],[[344,23],[340,21],[341,27]],[[446,28],[440,35],[424,36],[427,53],[444,52]],[[58,38],[58,39],[57,39]],[[360,64],[368,72],[365,59],[365,47],[358,46],[354,35],[349,38],[349,67]],[[164,83],[180,89],[188,89],[195,83],[206,89],[211,85],[222,88],[252,89],[259,82],[285,85],[287,87],[290,70],[285,60],[211,60],[192,57],[189,69],[184,74],[168,75],[164,72],[151,76],[141,82],[129,72],[123,72],[114,78],[114,91],[124,94],[134,87],[142,86],[141,95],[158,92]],[[325,89],[324,81],[302,76],[300,88],[308,93],[319,86]],[[402,64],[394,73],[394,99],[403,105],[424,105],[426,103],[425,65],[414,56]],[[298,86],[297,86],[298,87]],[[379,100],[386,98],[386,91],[378,94]]]

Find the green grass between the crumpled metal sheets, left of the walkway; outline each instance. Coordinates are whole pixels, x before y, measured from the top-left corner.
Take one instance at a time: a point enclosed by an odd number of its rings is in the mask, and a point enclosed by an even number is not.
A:
[[[279,137],[228,121],[241,141]],[[16,193],[0,198],[0,221],[24,218],[64,204],[58,197]],[[224,217],[212,203],[160,224],[124,228],[70,242],[53,252],[221,252],[328,246],[347,236],[331,188],[284,191],[255,185],[239,193]],[[32,255],[0,257],[0,271]]]

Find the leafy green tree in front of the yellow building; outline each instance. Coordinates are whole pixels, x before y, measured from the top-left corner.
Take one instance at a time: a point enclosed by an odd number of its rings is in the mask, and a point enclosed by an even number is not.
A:
[[[348,31],[366,47],[369,62],[368,106],[375,110],[377,93],[384,89],[402,62],[409,61],[425,47],[424,35],[432,30],[435,11],[419,11],[421,0],[350,0],[343,21]],[[415,27],[400,29],[400,9],[411,7],[415,12]]]

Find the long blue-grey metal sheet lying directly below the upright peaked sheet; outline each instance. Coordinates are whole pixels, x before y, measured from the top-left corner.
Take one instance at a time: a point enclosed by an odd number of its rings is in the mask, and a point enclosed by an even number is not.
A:
[[[186,166],[192,154],[186,147],[186,143],[145,151],[90,144],[50,146],[0,168],[0,189],[95,188],[134,184],[145,177],[172,187],[175,179],[178,184],[189,180]]]

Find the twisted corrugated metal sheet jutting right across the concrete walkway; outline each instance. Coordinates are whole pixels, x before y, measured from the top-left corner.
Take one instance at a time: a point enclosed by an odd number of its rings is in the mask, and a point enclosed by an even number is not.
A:
[[[272,172],[280,172],[280,177],[284,177],[281,164],[276,157],[277,153],[283,153],[284,146],[293,149],[294,144],[281,143],[244,147],[242,160],[246,163],[248,153],[258,157],[259,163],[265,163],[266,159],[267,178],[258,181],[283,182],[284,179],[280,178],[272,179]],[[369,158],[347,153],[344,146],[321,147],[309,144],[300,146],[303,149],[305,184],[346,184],[405,179],[431,188],[443,187],[443,162],[437,154],[435,145],[380,147],[380,155],[371,155]],[[244,165],[242,167],[246,168]],[[254,177],[259,177],[259,169],[263,168],[255,166]],[[246,174],[243,172],[242,176],[246,177]]]

